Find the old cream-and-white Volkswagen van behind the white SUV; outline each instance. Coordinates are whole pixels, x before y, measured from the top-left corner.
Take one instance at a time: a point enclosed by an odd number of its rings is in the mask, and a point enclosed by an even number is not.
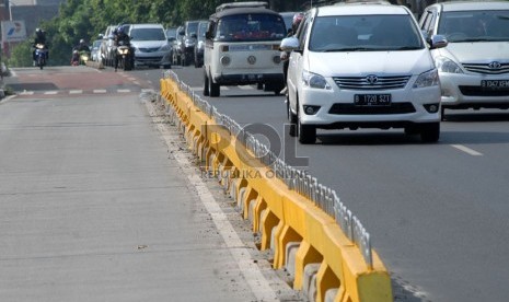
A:
[[[285,21],[266,2],[224,3],[210,15],[204,53],[204,95],[219,96],[221,85],[285,86],[279,44]]]

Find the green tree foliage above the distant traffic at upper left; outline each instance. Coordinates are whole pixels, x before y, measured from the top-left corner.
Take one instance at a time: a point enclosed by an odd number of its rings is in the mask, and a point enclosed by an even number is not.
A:
[[[178,26],[186,20],[203,20],[216,7],[234,0],[67,0],[59,14],[39,27],[46,31],[49,46],[49,65],[68,65],[72,47],[81,38],[92,43],[106,26],[118,23],[162,23]],[[269,0],[276,11],[298,11],[309,1]],[[31,43],[14,47],[10,66],[32,63]],[[20,56],[24,56],[23,58]],[[27,56],[27,57],[26,57]],[[25,59],[26,58],[26,59]]]

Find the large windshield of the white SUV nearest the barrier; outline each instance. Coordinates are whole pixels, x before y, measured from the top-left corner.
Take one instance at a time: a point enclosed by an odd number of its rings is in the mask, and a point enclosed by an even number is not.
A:
[[[397,15],[340,15],[315,19],[312,51],[415,50],[425,47],[412,18]]]

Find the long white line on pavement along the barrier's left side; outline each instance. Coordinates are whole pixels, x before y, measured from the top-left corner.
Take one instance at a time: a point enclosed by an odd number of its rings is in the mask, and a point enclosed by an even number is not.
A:
[[[146,102],[146,106],[149,112],[154,112],[153,107],[151,108],[151,102]],[[190,186],[193,189],[196,189],[199,200],[204,204],[207,212],[209,212],[212,218],[213,223],[229,247],[228,249],[235,259],[241,274],[244,276],[244,280],[256,297],[256,301],[278,301],[278,297],[271,289],[269,281],[265,278],[259,267],[250,257],[250,249],[241,247],[244,246],[244,243],[239,237],[239,234],[235,232],[233,225],[228,219],[228,216],[213,198],[213,195],[210,193],[207,185],[201,181],[200,175],[193,169],[189,169],[193,164],[187,159],[188,154],[180,151],[178,146],[174,144],[178,135],[171,133],[170,130],[161,124],[158,125],[158,129],[166,142],[169,151],[173,153],[181,169],[186,172],[185,174]]]

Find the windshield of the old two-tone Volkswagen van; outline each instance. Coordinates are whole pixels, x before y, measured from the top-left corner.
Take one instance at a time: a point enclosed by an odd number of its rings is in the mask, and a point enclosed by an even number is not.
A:
[[[275,14],[235,14],[222,18],[216,38],[229,42],[280,40],[286,36],[285,22]]]

